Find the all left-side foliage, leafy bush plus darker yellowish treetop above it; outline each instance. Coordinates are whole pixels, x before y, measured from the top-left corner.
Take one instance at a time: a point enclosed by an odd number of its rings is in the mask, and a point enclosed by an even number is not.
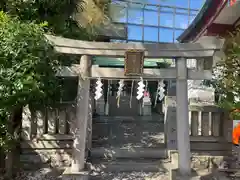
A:
[[[8,142],[6,137],[10,133],[7,123],[16,117],[16,112],[26,104],[49,104],[59,95],[53,93],[57,89],[55,72],[58,58],[45,40],[44,33],[93,39],[94,26],[108,19],[107,7],[108,0],[0,1],[2,147]],[[21,117],[17,121],[20,123]]]

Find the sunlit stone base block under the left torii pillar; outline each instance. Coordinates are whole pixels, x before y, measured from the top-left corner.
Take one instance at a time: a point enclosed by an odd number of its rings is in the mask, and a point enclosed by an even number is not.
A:
[[[62,174],[62,180],[88,180],[88,179],[89,179],[88,171],[72,172],[71,167],[67,168]]]

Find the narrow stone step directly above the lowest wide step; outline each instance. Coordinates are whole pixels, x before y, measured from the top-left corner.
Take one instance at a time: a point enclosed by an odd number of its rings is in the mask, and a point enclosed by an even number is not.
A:
[[[93,148],[91,158],[104,159],[165,159],[167,150],[159,148]]]

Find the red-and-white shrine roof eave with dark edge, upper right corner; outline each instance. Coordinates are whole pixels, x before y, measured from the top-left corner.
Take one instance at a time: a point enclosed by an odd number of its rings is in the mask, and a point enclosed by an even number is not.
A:
[[[207,0],[191,25],[178,37],[179,42],[196,42],[202,36],[224,37],[240,25],[240,1]]]

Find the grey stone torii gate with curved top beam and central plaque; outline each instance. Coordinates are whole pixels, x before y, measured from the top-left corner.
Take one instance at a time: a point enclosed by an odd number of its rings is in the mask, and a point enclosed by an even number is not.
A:
[[[93,103],[94,94],[90,91],[91,82],[99,80],[100,82],[111,81],[111,83],[113,81],[116,83],[126,81],[127,84],[131,84],[132,81],[135,81],[135,88],[132,90],[129,88],[130,91],[135,91],[135,94],[132,92],[129,93],[130,96],[133,96],[131,97],[133,99],[131,102],[131,111],[127,111],[127,109],[129,109],[129,101],[125,106],[124,102],[120,102],[119,111],[121,112],[117,114],[118,110],[113,108],[113,106],[117,104],[117,94],[114,95],[112,101],[110,101],[108,91],[102,91],[103,96],[107,94],[107,98],[104,100],[104,115],[119,116],[122,114],[122,116],[144,116],[144,113],[139,113],[138,105],[134,107],[134,104],[142,105],[142,96],[140,96],[139,100],[136,98],[136,91],[139,90],[137,89],[137,83],[143,80],[144,83],[147,81],[150,84],[151,82],[168,79],[176,79],[176,102],[175,105],[165,103],[166,105],[163,110],[165,113],[165,124],[167,123],[166,121],[168,121],[166,118],[168,106],[174,106],[176,109],[176,119],[173,119],[173,121],[177,123],[176,140],[179,153],[179,172],[183,176],[191,173],[187,80],[212,78],[214,56],[217,52],[221,51],[224,43],[223,40],[209,37],[200,39],[196,43],[131,44],[87,42],[50,35],[46,35],[46,38],[53,45],[56,52],[81,56],[79,64],[62,66],[57,74],[57,76],[63,77],[78,77],[78,90],[75,104],[76,119],[70,124],[73,132],[73,149],[72,163],[68,174],[75,175],[74,177],[76,179],[86,178],[86,174],[84,174],[86,173],[85,157],[87,156],[85,149],[91,149],[92,133],[94,131],[91,127],[92,113],[94,113],[93,109],[96,109],[94,106],[97,106],[98,101],[102,101],[101,98],[96,98],[99,94],[95,93],[95,99],[97,100],[95,100],[96,103]],[[174,59],[176,62],[175,67],[156,66],[156,59],[161,58]],[[187,59],[196,59],[197,67],[195,69],[187,68]],[[98,63],[96,63],[96,61],[98,61]],[[109,63],[107,63],[107,61],[109,61]],[[117,66],[117,63],[115,63],[115,66],[110,66],[114,61],[120,63],[120,65]],[[104,66],[103,62],[105,62]],[[108,64],[107,67],[106,64]],[[103,89],[108,89],[108,87],[108,85],[104,85],[103,83]],[[120,93],[120,99],[121,95]],[[130,96],[127,96],[127,99],[129,99]],[[106,101],[108,102],[107,110]],[[116,112],[113,113],[113,111]]]

